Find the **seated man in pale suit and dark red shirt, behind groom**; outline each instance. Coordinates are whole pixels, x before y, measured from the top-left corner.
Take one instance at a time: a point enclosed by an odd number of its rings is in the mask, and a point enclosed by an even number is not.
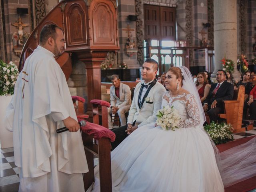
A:
[[[111,76],[110,108],[108,108],[108,128],[112,129],[112,114],[118,114],[121,126],[126,125],[125,113],[130,110],[131,90],[126,84],[121,83],[118,75]]]

